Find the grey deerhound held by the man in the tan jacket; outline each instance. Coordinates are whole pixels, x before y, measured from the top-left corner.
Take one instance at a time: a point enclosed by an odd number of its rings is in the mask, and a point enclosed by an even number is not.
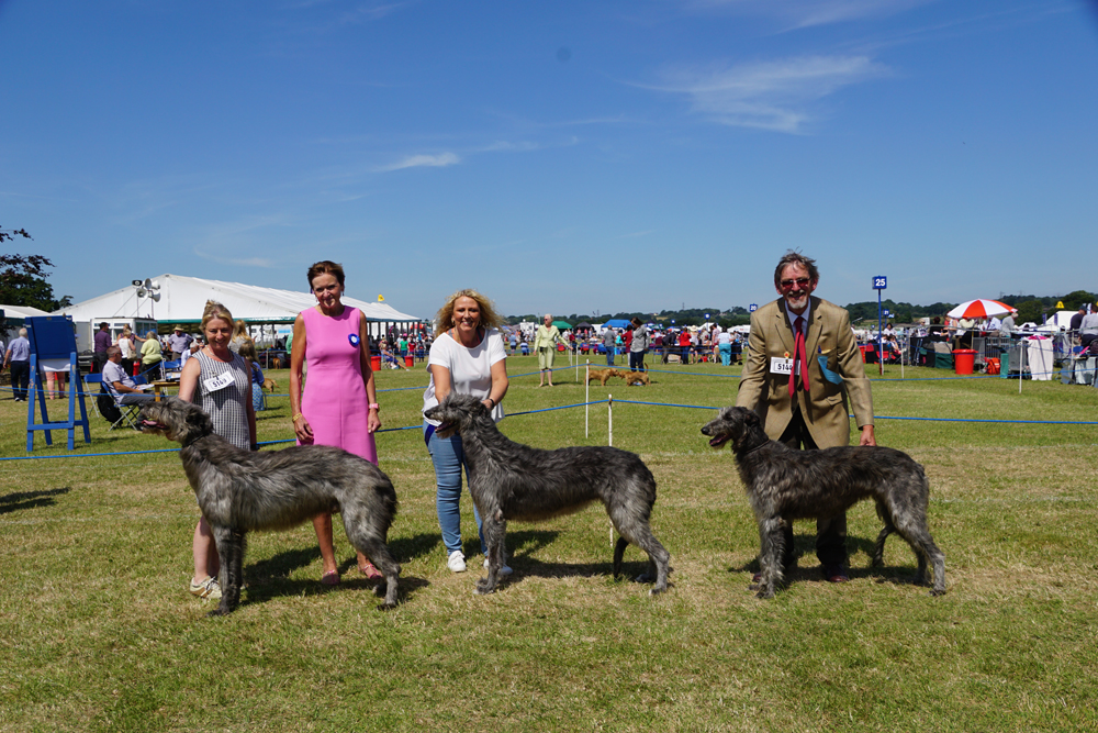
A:
[[[773,598],[782,582],[782,527],[786,522],[832,517],[870,497],[885,523],[873,551],[873,565],[884,562],[885,538],[896,532],[919,559],[920,581],[929,581],[927,564],[933,566],[930,595],[945,592],[945,555],[927,527],[930,484],[922,466],[906,453],[870,446],[794,451],[770,440],[759,415],[747,408],[724,408],[702,432],[713,438],[709,445],[715,448],[732,442],[762,541],[759,598]]]

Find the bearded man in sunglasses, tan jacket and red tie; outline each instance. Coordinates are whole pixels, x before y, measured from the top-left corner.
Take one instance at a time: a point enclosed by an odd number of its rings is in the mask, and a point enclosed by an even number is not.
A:
[[[754,410],[766,434],[793,448],[850,443],[853,408],[860,445],[876,445],[873,397],[850,314],[813,297],[816,260],[789,251],[774,270],[780,298],[751,315],[751,334],[736,404]],[[799,330],[799,335],[798,335]],[[817,522],[816,556],[831,582],[847,576],[847,515]],[[785,527],[786,566],[796,562],[793,527]]]

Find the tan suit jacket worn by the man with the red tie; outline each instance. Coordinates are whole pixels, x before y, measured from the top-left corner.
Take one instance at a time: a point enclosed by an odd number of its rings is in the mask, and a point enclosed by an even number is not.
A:
[[[793,411],[789,377],[771,373],[771,357],[792,357],[793,346],[793,326],[786,315],[785,300],[766,303],[752,313],[736,404],[754,410],[773,440],[785,432]],[[798,384],[796,400],[808,431],[820,448],[849,445],[849,409],[853,407],[859,427],[872,425],[873,397],[847,310],[813,297],[805,348],[809,390],[806,395]],[[836,385],[824,377],[817,358],[820,355],[837,365],[833,371],[841,375],[842,384]]]

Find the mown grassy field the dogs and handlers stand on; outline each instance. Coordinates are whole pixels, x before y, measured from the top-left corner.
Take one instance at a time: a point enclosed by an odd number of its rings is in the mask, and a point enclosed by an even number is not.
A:
[[[536,369],[508,363],[512,375]],[[481,558],[464,512],[470,571],[446,569],[434,473],[419,430],[378,437],[401,511],[390,547],[402,603],[379,612],[341,530],[344,582],[318,582],[311,526],[254,535],[248,588],[233,615],[187,592],[198,512],[173,452],[133,431],[91,445],[64,433],[35,456],[0,462],[0,729],[13,731],[1075,731],[1098,724],[1098,473],[1095,426],[903,418],[1095,419],[1098,390],[1058,382],[930,380],[886,371],[874,385],[877,436],[931,479],[930,526],[948,592],[910,584],[915,558],[850,513],[851,582],[820,579],[814,526],[796,527],[799,567],[772,601],[748,590],[758,534],[732,455],[698,427],[738,368],[666,367],[648,388],[612,380],[614,445],[656,474],[653,530],[673,587],[609,577],[610,534],[592,508],[512,524],[515,575],[472,589]],[[702,376],[721,375],[721,376]],[[285,373],[272,373],[282,391]],[[872,375],[876,377],[876,375]],[[919,379],[923,378],[923,379]],[[513,376],[508,412],[583,401],[574,374],[553,389]],[[386,429],[419,424],[422,370],[385,370]],[[406,389],[401,388],[419,388]],[[51,406],[59,404],[51,402]],[[23,408],[23,409],[20,409]],[[25,408],[0,400],[0,454],[24,456]],[[538,447],[605,444],[607,409],[513,415],[512,438]],[[289,437],[288,399],[259,415],[262,441]],[[268,448],[270,449],[270,448]],[[79,457],[85,456],[85,457]],[[643,568],[626,553],[631,575]]]

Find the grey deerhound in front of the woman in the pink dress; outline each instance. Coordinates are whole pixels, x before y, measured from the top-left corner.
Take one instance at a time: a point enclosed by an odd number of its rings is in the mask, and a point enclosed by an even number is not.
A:
[[[240,601],[248,532],[289,530],[324,512],[343,513],[350,544],[385,578],[383,606],[396,606],[401,566],[385,546],[396,491],[377,466],[329,445],[242,451],[213,432],[210,415],[178,398],[146,403],[141,418],[144,431],[182,444],[183,470],[213,531],[222,596],[210,615],[231,613]]]

